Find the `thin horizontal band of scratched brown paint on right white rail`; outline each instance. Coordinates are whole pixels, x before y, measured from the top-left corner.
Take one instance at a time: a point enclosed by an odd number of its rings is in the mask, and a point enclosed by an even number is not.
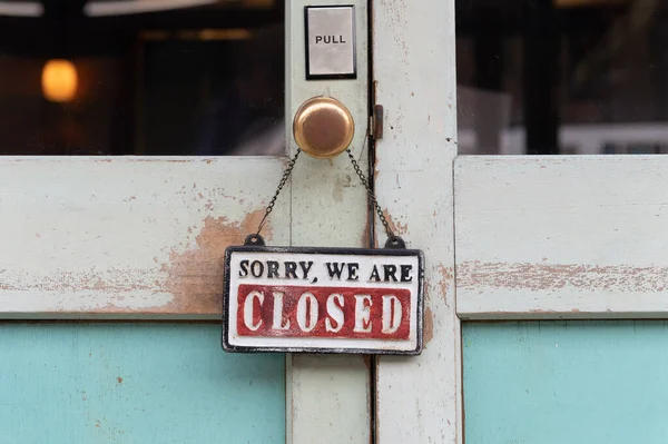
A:
[[[505,264],[465,262],[458,265],[462,288],[515,290],[580,290],[662,293],[668,289],[668,267],[598,266],[579,264]]]

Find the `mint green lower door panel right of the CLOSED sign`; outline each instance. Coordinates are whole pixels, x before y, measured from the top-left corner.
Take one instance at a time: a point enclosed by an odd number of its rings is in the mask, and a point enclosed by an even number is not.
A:
[[[466,444],[668,443],[668,324],[464,324]]]

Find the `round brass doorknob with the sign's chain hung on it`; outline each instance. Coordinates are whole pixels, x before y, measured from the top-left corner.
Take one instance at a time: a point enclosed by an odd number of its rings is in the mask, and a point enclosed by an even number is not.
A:
[[[295,141],[302,150],[320,159],[345,151],[355,135],[353,115],[338,100],[313,97],[297,110],[293,120]]]

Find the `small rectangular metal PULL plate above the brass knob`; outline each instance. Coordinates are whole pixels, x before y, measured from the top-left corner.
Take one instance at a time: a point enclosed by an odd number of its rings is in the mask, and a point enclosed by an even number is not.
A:
[[[305,7],[306,79],[355,79],[355,7]]]

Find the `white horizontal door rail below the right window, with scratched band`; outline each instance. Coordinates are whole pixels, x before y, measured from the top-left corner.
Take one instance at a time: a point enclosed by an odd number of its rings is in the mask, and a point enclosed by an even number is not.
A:
[[[455,165],[461,317],[668,315],[668,158]]]

